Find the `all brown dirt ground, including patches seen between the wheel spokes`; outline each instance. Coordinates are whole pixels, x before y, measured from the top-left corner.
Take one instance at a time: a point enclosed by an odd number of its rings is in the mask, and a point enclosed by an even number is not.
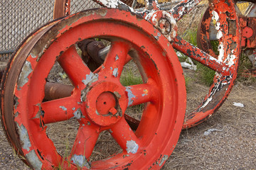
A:
[[[201,101],[198,96],[204,96],[202,91],[192,89],[194,82],[188,85],[188,109]],[[233,102],[243,103],[244,108],[233,106]],[[162,169],[255,169],[256,168],[256,84],[245,85],[237,82],[227,101],[206,122],[194,128],[181,132],[178,144],[173,154]],[[76,129],[77,123],[60,123],[50,134],[59,152],[65,154],[63,139],[72,143],[74,135],[63,135],[63,127]],[[61,128],[60,128],[61,127]],[[49,127],[54,128],[53,126]],[[61,130],[60,130],[61,129]],[[207,130],[216,129],[209,135],[204,135]],[[58,134],[58,135],[56,135]],[[60,142],[62,141],[62,142]],[[67,140],[65,140],[67,141]],[[28,169],[14,154],[6,140],[3,130],[0,130],[0,169]],[[104,146],[107,147],[104,147]],[[94,154],[95,159],[106,157],[107,154],[118,152],[113,140],[107,133],[101,135]]]

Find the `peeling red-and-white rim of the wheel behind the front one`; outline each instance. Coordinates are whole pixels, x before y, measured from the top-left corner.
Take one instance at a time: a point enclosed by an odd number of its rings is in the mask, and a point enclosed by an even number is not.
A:
[[[212,61],[215,61],[214,58],[205,60],[206,62],[201,60],[201,63],[215,70],[216,73],[213,84],[210,86],[210,90],[201,105],[192,113],[186,114],[183,128],[191,128],[198,125],[209,118],[210,115],[213,115],[230,94],[237,77],[240,57],[240,27],[238,16],[235,13],[235,6],[233,1],[211,1],[209,6],[210,8],[203,16],[198,28],[198,36],[201,40],[201,42],[198,42],[198,46],[217,59],[217,63],[213,62],[215,64],[212,63]],[[217,54],[209,47],[210,42],[208,40],[210,40],[210,35],[207,30],[209,30],[210,23],[214,24],[212,34],[215,35],[216,41],[218,41]],[[178,49],[182,50],[181,47],[178,47]],[[194,54],[198,53],[193,48],[185,49],[189,50],[185,52],[188,56],[193,55],[192,52]],[[201,57],[203,56],[201,55]]]

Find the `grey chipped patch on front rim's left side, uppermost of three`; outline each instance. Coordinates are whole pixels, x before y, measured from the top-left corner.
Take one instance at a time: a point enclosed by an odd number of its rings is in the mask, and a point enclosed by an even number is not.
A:
[[[28,83],[28,76],[33,72],[33,69],[31,67],[31,62],[26,61],[21,69],[21,74],[18,77],[18,90],[21,90],[21,87],[24,86],[26,83]]]

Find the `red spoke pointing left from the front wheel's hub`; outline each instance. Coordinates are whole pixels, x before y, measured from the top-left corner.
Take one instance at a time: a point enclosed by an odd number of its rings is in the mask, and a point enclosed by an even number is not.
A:
[[[43,122],[55,123],[70,118],[79,118],[82,116],[81,108],[78,105],[78,99],[74,96],[60,98],[53,101],[41,103],[41,111],[43,112]]]

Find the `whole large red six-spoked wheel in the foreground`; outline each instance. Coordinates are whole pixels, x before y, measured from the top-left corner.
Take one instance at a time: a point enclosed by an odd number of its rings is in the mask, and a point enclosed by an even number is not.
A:
[[[142,18],[117,9],[82,11],[27,38],[9,63],[1,83],[1,119],[7,137],[33,169],[160,169],[173,151],[183,125],[186,89],[169,42]],[[111,42],[100,69],[92,73],[76,43],[87,38]],[[120,82],[127,56],[142,84]],[[46,79],[55,62],[72,82],[69,96],[46,100]],[[62,84],[63,85],[63,84]],[[64,86],[64,85],[63,85]],[[127,108],[144,103],[133,131]],[[77,119],[68,157],[56,150],[47,125]],[[91,162],[100,132],[109,131],[121,151]],[[70,133],[72,133],[70,132]]]

